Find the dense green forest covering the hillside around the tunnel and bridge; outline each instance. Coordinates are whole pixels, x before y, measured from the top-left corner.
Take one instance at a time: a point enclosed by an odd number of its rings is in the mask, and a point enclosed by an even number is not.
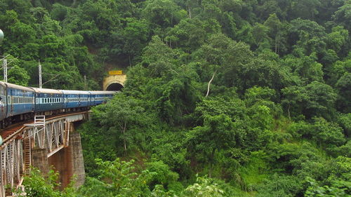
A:
[[[78,129],[86,184],[32,170],[27,196],[350,196],[350,22],[350,0],[0,0],[10,83],[128,76]]]

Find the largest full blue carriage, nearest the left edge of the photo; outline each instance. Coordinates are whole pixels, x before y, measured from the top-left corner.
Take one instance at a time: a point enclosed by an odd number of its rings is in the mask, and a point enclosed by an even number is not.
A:
[[[5,117],[8,118],[9,123],[31,118],[34,115],[34,90],[12,83],[1,83],[6,86]]]

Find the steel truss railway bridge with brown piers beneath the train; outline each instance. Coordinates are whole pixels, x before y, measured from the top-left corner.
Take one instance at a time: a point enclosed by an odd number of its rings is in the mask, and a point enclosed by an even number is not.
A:
[[[85,172],[81,137],[74,125],[88,118],[88,111],[60,114],[46,118],[35,116],[34,121],[6,128],[0,146],[0,197],[13,196],[11,188],[22,187],[30,166],[45,175],[49,166],[60,173],[62,188],[72,175],[75,184],[84,184]]]

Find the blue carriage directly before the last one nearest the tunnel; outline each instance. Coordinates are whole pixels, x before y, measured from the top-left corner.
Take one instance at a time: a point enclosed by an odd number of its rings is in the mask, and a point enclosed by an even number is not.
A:
[[[65,111],[75,111],[76,109],[88,109],[91,94],[88,91],[61,90],[63,93]]]

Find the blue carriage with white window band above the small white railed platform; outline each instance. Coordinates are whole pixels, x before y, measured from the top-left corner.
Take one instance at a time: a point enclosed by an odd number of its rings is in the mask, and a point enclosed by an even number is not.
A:
[[[32,88],[35,92],[36,114],[58,114],[63,108],[63,93],[60,90]]]

